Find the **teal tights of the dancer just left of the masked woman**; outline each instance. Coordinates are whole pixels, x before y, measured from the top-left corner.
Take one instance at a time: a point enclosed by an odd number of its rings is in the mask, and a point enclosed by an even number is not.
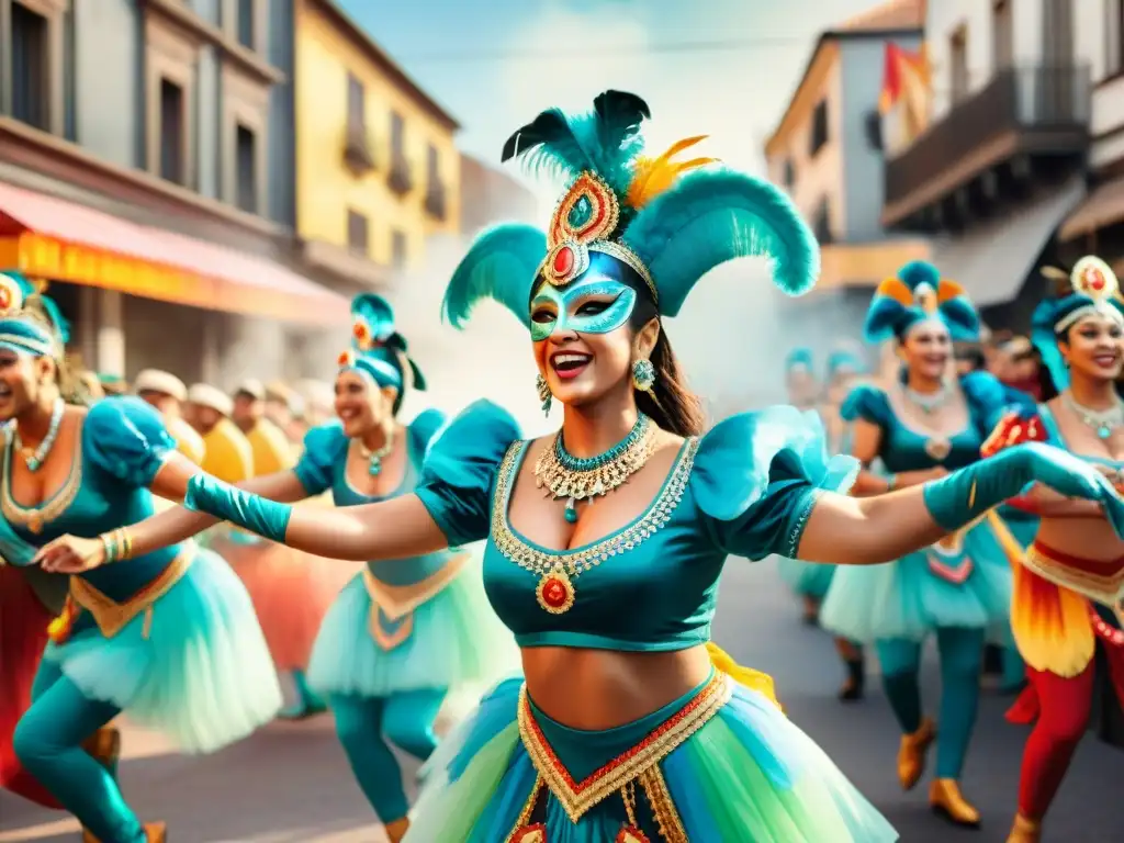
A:
[[[355,781],[383,823],[401,819],[409,810],[390,744],[419,761],[429,758],[437,746],[433,725],[444,699],[444,690],[427,689],[390,697],[333,695],[329,700]]]

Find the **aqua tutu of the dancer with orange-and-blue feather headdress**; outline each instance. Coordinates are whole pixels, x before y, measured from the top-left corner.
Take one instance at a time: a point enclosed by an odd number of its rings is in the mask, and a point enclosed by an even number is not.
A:
[[[1008,628],[1010,563],[981,522],[952,546],[883,565],[841,565],[819,608],[825,629],[859,643],[922,641],[939,627]]]

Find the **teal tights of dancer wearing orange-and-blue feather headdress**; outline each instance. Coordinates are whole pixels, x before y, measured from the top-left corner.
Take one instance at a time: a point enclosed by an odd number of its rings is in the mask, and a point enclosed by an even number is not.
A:
[[[936,735],[936,776],[959,779],[979,708],[980,670],[984,663],[984,629],[941,627],[936,646],[941,655],[941,708]],[[918,670],[921,644],[903,638],[879,641],[882,687],[905,734],[921,727],[922,705]]]

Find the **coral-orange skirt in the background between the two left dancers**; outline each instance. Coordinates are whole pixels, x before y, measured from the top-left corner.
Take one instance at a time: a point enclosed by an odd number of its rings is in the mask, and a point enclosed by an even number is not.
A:
[[[243,531],[216,531],[209,546],[250,592],[278,670],[306,670],[320,624],[359,563],[312,556]]]

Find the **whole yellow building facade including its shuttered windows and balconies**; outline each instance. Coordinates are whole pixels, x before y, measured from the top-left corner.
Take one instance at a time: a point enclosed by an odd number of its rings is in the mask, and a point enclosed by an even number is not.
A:
[[[456,121],[332,0],[297,0],[297,234],[355,287],[425,265],[460,230]]]

